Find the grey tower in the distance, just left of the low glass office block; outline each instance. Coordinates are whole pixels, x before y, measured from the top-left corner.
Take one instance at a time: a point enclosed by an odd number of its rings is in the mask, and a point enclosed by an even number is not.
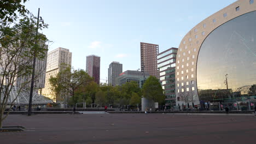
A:
[[[112,62],[108,68],[108,84],[115,86],[115,78],[123,72],[123,64],[119,62]]]

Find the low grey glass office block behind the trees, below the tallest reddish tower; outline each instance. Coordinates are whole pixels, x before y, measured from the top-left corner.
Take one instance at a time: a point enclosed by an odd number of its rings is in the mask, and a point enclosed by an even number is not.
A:
[[[138,83],[139,87],[142,87],[143,80],[149,77],[149,73],[145,71],[136,71],[136,70],[126,70],[123,73],[119,74],[117,78],[115,78],[115,83],[118,86],[124,85],[126,82],[135,81]]]

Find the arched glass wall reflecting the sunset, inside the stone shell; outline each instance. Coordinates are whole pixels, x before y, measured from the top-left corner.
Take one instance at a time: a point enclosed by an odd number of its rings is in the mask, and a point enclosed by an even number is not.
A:
[[[256,11],[224,23],[207,36],[196,75],[202,103],[256,99]]]

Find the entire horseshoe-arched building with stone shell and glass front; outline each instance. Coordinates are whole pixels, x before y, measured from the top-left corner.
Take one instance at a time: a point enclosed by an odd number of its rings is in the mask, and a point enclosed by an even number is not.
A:
[[[255,10],[253,0],[238,0],[185,35],[177,53],[177,105],[252,110],[256,104]]]

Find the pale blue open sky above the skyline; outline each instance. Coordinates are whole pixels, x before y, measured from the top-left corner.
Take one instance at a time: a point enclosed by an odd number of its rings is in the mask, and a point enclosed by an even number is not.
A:
[[[109,64],[123,71],[141,68],[140,42],[159,45],[159,52],[178,47],[197,23],[236,0],[30,0],[25,7],[40,16],[48,29],[49,51],[72,52],[72,67],[84,69],[86,56],[101,57],[101,82]]]

